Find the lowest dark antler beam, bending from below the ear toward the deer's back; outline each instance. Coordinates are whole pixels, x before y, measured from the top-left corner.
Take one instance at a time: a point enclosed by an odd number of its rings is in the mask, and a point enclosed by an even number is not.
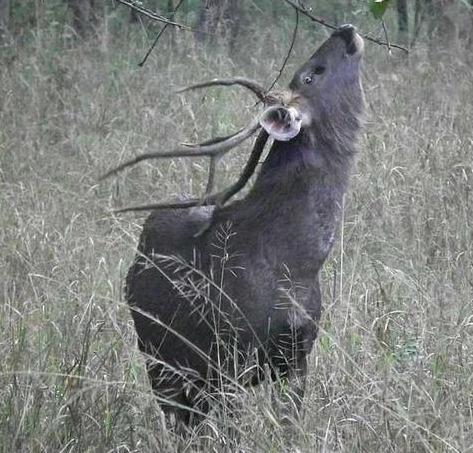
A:
[[[256,166],[260,160],[261,155],[263,154],[264,147],[268,141],[268,133],[262,129],[256,138],[255,144],[251,151],[250,157],[245,164],[245,168],[240,174],[238,180],[232,184],[230,187],[227,187],[225,190],[218,192],[213,195],[207,195],[203,199],[190,199],[181,202],[168,202],[168,203],[154,203],[146,204],[142,206],[130,206],[122,209],[116,209],[115,213],[124,213],[130,211],[149,211],[153,209],[183,209],[183,208],[192,208],[194,206],[208,206],[208,205],[217,205],[219,207],[223,206],[230,198],[236,195],[246,183],[249,181],[251,176],[256,170]]]

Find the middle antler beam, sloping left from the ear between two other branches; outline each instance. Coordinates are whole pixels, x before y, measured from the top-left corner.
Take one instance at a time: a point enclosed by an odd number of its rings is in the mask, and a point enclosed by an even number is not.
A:
[[[260,124],[258,121],[252,122],[249,126],[241,129],[236,134],[230,135],[225,139],[218,139],[218,141],[212,140],[200,145],[185,145],[179,148],[176,148],[172,151],[164,153],[144,153],[140,156],[135,157],[118,167],[113,168],[99,178],[99,181],[102,181],[109,176],[115,175],[118,172],[124,170],[125,168],[136,165],[139,162],[142,162],[147,159],[163,159],[163,158],[173,158],[173,157],[202,157],[202,156],[217,156],[226,153],[235,146],[239,145],[247,138],[251,137],[259,128]]]

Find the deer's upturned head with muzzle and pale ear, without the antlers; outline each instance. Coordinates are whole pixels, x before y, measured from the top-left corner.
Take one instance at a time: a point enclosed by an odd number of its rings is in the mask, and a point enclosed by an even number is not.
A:
[[[344,25],[294,74],[280,104],[263,112],[261,126],[274,139],[288,141],[301,128],[335,121],[347,109],[363,106],[360,62],[363,40],[352,25]],[[356,112],[358,113],[358,112]]]

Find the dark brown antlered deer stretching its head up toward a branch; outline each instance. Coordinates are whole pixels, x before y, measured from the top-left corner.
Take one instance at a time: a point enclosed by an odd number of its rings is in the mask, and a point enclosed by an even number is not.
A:
[[[245,79],[197,86],[238,83],[270,99],[257,154],[268,134],[274,142],[245,198],[223,206],[229,196],[208,197],[206,206],[154,210],[128,273],[127,300],[151,383],[167,401],[163,409],[183,422],[196,408],[208,410],[203,389],[257,383],[265,364],[274,376],[294,378],[303,395],[321,310],[319,272],[339,223],[364,109],[362,51],[354,28],[343,26],[283,96]],[[174,155],[228,150],[256,129]],[[216,201],[219,206],[209,206]]]

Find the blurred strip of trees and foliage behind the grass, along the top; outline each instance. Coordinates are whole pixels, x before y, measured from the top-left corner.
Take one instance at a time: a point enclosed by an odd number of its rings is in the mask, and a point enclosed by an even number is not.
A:
[[[174,17],[178,0],[131,2],[158,14]],[[388,25],[390,39],[413,47],[418,38],[446,43],[464,41],[471,47],[473,0],[306,0],[301,5],[333,24],[352,22],[367,33],[380,34],[380,21]],[[176,21],[194,29],[194,40],[225,44],[234,52],[241,36],[251,36],[267,26],[293,22],[284,1],[184,0]],[[274,27],[276,25],[276,27]],[[22,44],[39,31],[57,38],[94,39],[104,27],[113,34],[140,27],[159,27],[116,0],[0,0],[0,39],[3,44]],[[302,27],[311,26],[303,21]],[[383,31],[384,33],[384,31]],[[211,37],[211,39],[208,39]]]

